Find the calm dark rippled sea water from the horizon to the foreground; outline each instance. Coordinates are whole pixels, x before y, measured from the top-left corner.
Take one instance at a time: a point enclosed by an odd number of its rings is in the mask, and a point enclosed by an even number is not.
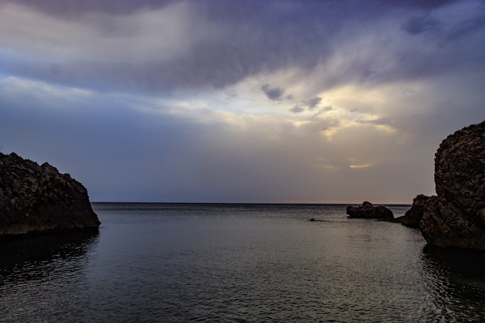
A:
[[[93,203],[97,233],[1,242],[0,322],[485,321],[484,253],[345,206]]]

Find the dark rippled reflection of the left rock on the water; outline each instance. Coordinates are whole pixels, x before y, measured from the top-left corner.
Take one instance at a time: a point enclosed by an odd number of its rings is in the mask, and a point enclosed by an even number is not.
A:
[[[2,241],[0,321],[44,322],[57,312],[62,322],[66,310],[79,315],[88,305],[85,276],[97,239],[95,230]]]

